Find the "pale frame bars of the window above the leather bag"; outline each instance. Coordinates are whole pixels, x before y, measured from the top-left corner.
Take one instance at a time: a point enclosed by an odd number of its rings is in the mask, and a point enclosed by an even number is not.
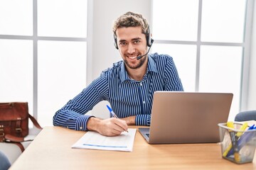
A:
[[[92,22],[92,6],[93,1],[87,0],[87,23]],[[86,38],[72,38],[72,37],[48,37],[38,36],[38,0],[33,0],[33,34],[32,35],[1,35],[0,39],[9,40],[32,40],[33,41],[33,117],[38,118],[38,41],[73,41],[73,42],[87,42],[87,77],[86,82],[92,79],[92,24],[87,24]],[[36,130],[33,127],[31,134]]]

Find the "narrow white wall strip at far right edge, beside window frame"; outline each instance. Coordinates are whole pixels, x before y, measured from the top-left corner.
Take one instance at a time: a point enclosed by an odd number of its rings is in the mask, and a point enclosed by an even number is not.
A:
[[[247,110],[256,110],[256,3],[254,4],[254,11]]]

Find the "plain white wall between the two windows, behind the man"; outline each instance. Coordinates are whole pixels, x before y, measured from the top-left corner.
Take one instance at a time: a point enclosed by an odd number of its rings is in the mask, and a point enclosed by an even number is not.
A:
[[[92,8],[92,58],[88,64],[90,79],[97,78],[102,70],[111,67],[112,63],[122,60],[118,50],[113,44],[112,24],[115,19],[127,11],[142,13],[150,22],[151,1],[150,0],[94,0]],[[89,23],[90,24],[90,23]],[[88,35],[89,36],[89,35]],[[89,71],[88,70],[88,71]],[[89,71],[90,72],[90,71]],[[101,118],[109,115],[105,106],[106,102],[97,105],[92,114]]]

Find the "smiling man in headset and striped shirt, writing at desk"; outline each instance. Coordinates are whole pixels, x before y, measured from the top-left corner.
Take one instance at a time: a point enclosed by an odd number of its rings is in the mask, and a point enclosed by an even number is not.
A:
[[[173,59],[157,53],[147,55],[154,40],[142,15],[127,12],[119,16],[113,33],[122,61],[103,71],[55,113],[53,125],[120,135],[128,125],[150,125],[154,91],[183,91]],[[85,115],[103,100],[110,102],[118,118],[102,120]]]

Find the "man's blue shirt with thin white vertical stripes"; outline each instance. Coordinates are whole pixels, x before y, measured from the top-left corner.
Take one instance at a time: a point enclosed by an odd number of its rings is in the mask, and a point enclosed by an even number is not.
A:
[[[169,55],[148,55],[148,67],[142,81],[130,79],[124,62],[116,62],[78,96],[55,113],[53,125],[87,130],[85,115],[100,101],[109,101],[119,118],[136,115],[136,125],[150,125],[154,91],[183,91],[181,79]]]

